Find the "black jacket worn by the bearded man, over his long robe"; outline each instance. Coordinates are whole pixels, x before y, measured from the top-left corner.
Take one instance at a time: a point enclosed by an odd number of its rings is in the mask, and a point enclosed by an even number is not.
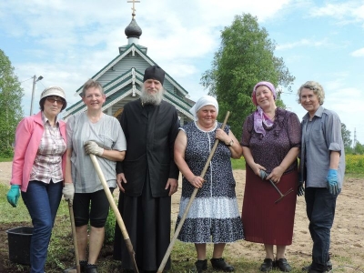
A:
[[[124,106],[119,121],[126,136],[126,157],[117,162],[116,173],[126,177],[125,194],[140,196],[148,177],[153,197],[167,197],[167,179],[177,179],[179,173],[173,155],[179,127],[175,106],[166,101],[142,106],[137,99]]]

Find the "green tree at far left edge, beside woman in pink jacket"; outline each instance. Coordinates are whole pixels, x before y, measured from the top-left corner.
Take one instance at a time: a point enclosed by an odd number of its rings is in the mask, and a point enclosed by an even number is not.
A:
[[[23,117],[23,95],[14,67],[0,49],[0,157],[12,157],[15,129]]]

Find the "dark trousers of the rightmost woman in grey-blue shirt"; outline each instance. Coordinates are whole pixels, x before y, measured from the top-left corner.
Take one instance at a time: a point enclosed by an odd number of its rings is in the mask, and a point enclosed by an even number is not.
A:
[[[330,231],[335,217],[336,199],[326,187],[306,187],[306,212],[313,241],[311,268],[326,271],[329,260]]]

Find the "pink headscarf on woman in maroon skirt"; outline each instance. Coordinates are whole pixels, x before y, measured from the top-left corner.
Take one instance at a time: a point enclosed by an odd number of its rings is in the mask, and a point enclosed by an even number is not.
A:
[[[271,83],[258,82],[258,84],[256,86],[254,86],[253,93],[251,94],[251,99],[253,101],[253,104],[255,106],[257,106],[257,110],[254,112],[254,130],[258,134],[262,134],[263,136],[266,136],[266,130],[263,127],[263,123],[266,126],[270,127],[270,126],[273,126],[274,122],[266,114],[264,114],[263,109],[260,106],[258,106],[257,97],[256,97],[256,92],[257,92],[258,86],[267,86],[270,89],[270,91],[272,91],[274,100],[276,100],[277,93],[276,93],[276,89],[274,88],[274,86]]]

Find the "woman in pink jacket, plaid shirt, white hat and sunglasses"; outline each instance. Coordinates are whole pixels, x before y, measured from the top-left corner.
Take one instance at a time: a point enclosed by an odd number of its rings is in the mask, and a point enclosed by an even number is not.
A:
[[[66,108],[61,87],[45,88],[41,111],[25,117],[15,133],[11,188],[7,200],[16,207],[22,197],[33,223],[30,243],[31,273],[45,272],[47,248],[62,192],[72,202],[73,184],[64,184],[66,172],[66,124],[57,115]]]

